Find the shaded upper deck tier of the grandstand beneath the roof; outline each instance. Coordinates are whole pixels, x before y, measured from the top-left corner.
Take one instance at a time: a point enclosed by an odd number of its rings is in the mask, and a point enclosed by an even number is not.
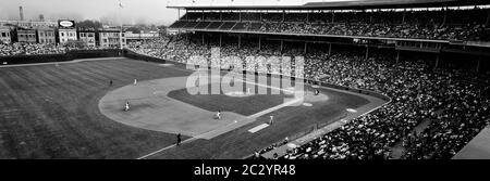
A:
[[[298,7],[299,10],[301,7]],[[170,28],[208,31],[328,35],[333,37],[376,37],[425,40],[489,41],[488,10],[477,5],[460,9],[437,7],[379,10],[327,9],[305,12],[188,13]],[[299,11],[298,10],[298,11]],[[314,9],[313,9],[314,10]]]

